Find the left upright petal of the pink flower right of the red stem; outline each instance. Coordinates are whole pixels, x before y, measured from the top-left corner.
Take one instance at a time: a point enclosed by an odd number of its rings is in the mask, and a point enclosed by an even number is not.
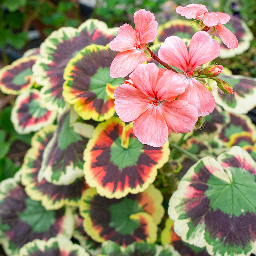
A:
[[[181,69],[186,73],[189,58],[186,44],[178,36],[169,36],[158,51],[160,60]]]

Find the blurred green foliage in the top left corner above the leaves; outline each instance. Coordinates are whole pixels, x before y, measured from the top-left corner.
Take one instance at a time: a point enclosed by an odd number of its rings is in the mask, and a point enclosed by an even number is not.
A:
[[[80,24],[79,5],[68,0],[58,1],[57,5],[46,0],[2,0],[0,3],[0,47],[6,65],[5,47],[24,48],[28,43],[28,30],[35,20],[43,23],[40,31],[43,36],[64,26]]]

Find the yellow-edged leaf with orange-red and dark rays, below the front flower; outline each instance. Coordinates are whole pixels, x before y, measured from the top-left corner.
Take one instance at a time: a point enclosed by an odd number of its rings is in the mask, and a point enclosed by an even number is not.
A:
[[[133,134],[132,123],[125,126],[113,117],[95,128],[87,144],[85,180],[108,198],[136,194],[155,180],[169,153],[168,142],[159,148],[143,145]]]

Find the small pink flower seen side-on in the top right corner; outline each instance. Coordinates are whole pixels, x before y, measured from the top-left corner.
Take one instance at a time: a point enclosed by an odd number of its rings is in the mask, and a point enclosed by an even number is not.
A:
[[[188,4],[178,6],[176,12],[187,19],[198,19],[203,22],[203,28],[209,34],[218,36],[228,48],[235,49],[238,45],[236,36],[224,25],[230,20],[230,16],[224,12],[209,12],[203,4]],[[199,23],[199,28],[202,28]]]

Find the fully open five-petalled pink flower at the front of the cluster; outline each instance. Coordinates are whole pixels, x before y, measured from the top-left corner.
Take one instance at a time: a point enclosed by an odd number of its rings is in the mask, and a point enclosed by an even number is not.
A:
[[[186,87],[178,74],[149,63],[139,64],[130,78],[114,91],[115,110],[124,122],[134,120],[133,133],[141,143],[162,146],[168,128],[176,133],[192,131],[198,114],[187,101],[175,100]]]

